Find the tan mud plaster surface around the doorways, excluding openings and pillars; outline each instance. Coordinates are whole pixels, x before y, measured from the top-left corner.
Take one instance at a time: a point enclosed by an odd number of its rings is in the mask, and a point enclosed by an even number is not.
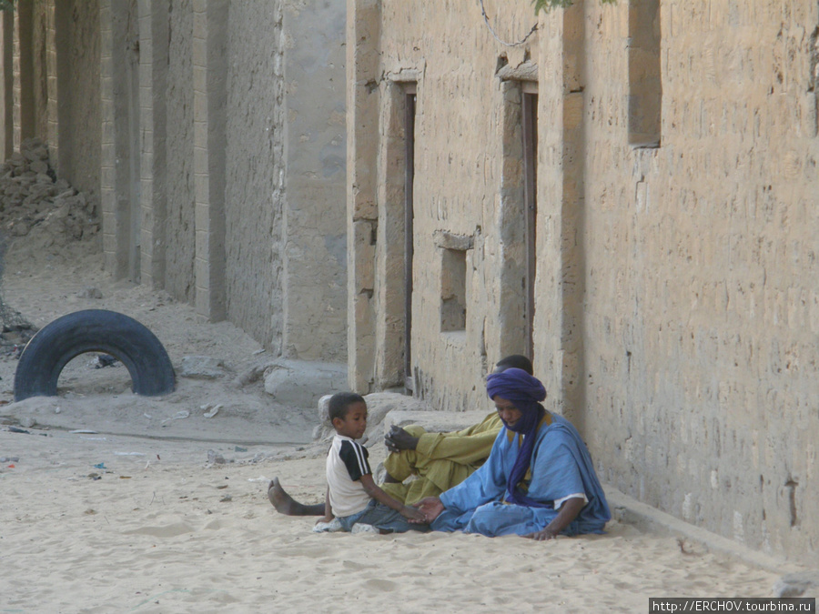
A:
[[[529,30],[530,3],[505,3],[502,15],[499,3],[485,4],[499,35]],[[420,71],[417,394],[440,408],[488,408],[480,374],[500,357],[497,331],[507,326],[494,224],[494,72],[504,49],[471,4],[380,8],[379,72]],[[576,10],[579,20],[541,17],[531,46],[541,93],[534,363],[550,407],[580,414],[603,480],[754,549],[815,564],[817,4],[662,2],[656,149],[628,146],[629,3]],[[578,36],[584,44],[572,50]],[[510,64],[522,60],[516,53]],[[570,73],[577,78],[551,82]],[[571,149],[582,160],[580,195],[567,196],[564,121],[582,124]],[[581,210],[561,209],[561,199]],[[579,216],[571,237],[561,236],[567,211]],[[475,238],[462,333],[440,333],[441,229]],[[585,288],[572,314],[554,298],[564,243],[579,246]],[[554,406],[566,386],[551,371],[565,369],[567,316],[581,335],[583,383],[572,398],[582,408]]]

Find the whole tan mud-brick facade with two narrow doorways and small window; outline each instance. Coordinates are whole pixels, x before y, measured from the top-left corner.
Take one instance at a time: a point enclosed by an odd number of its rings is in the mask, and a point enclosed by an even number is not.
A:
[[[530,354],[604,481],[819,562],[817,35],[814,0],[349,0],[351,385],[489,409]]]

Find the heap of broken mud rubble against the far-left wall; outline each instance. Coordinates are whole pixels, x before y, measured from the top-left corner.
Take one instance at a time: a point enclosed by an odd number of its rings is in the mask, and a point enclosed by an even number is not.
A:
[[[40,226],[47,235],[41,247],[87,239],[99,231],[95,208],[85,194],[57,179],[39,139],[24,141],[0,165],[0,233],[5,237],[27,237]]]

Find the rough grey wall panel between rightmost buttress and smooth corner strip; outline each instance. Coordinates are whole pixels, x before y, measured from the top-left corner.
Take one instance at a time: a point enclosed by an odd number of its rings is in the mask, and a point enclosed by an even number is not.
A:
[[[285,197],[278,3],[231,3],[228,36],[227,317],[278,354]]]

